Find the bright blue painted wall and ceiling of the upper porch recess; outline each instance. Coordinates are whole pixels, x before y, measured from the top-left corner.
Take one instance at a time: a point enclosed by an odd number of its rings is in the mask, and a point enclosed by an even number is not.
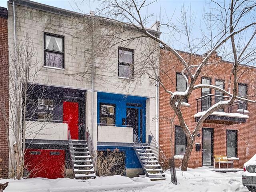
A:
[[[127,96],[124,94],[111,94],[105,92],[98,92],[97,93],[97,123],[100,123],[100,103],[106,104],[115,104],[115,124],[122,125],[122,118],[126,119],[126,109],[127,108],[138,108],[139,110],[142,109],[142,121],[140,121],[139,115],[139,122],[138,127],[140,128],[140,123],[142,123],[142,142],[146,141],[146,99],[145,97],[139,96]],[[127,103],[132,104],[140,104],[139,106],[127,106]],[[140,132],[140,131],[139,131]],[[140,134],[140,133],[139,133]],[[140,137],[140,135],[138,135]]]

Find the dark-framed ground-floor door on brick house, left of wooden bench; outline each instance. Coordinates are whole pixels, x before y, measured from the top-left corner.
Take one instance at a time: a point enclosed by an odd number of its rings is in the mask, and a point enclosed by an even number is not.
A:
[[[203,128],[202,161],[203,166],[213,165],[213,129]]]

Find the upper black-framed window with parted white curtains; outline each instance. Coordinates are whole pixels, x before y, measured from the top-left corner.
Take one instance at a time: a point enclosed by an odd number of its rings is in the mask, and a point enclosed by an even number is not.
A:
[[[64,37],[44,33],[44,65],[64,69]]]

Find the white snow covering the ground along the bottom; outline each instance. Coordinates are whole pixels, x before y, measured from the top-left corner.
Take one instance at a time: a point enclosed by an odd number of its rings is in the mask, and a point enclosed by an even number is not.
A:
[[[217,173],[198,168],[177,171],[176,174],[177,185],[170,182],[170,171],[166,171],[165,181],[150,181],[146,176],[108,176],[86,181],[68,178],[2,179],[0,183],[9,182],[4,192],[248,192],[242,186],[242,171]]]

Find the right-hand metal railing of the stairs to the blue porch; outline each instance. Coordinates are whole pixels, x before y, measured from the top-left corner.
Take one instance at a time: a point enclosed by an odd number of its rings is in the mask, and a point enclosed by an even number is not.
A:
[[[151,142],[149,143],[149,146],[150,146],[152,152],[154,153],[154,155],[156,156],[158,163],[163,168],[164,163],[165,162],[168,163],[168,159],[166,158],[166,156],[165,156],[163,150],[160,148],[159,144],[156,142],[156,139],[154,138],[154,135],[152,134],[151,131],[150,131],[150,136],[152,137],[152,139],[151,139]]]

